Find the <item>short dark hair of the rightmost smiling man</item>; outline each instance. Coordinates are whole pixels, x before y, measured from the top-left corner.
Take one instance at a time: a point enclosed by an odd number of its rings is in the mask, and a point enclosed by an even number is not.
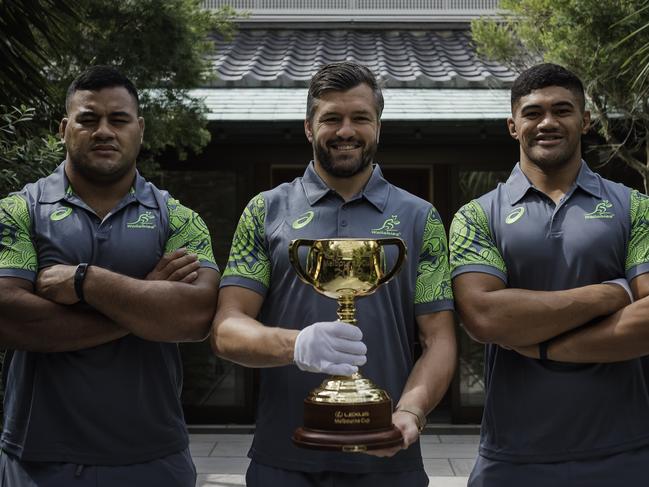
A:
[[[579,99],[581,110],[586,108],[584,85],[577,75],[558,64],[543,63],[523,71],[514,81],[512,85],[512,113],[514,105],[519,99],[529,95],[533,90],[548,86],[561,86],[572,91]]]

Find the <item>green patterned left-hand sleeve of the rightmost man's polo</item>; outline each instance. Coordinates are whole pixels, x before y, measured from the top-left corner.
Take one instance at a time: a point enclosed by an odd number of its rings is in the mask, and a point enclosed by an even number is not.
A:
[[[473,200],[455,214],[449,237],[451,277],[465,272],[492,274],[507,283],[507,266],[482,206]]]

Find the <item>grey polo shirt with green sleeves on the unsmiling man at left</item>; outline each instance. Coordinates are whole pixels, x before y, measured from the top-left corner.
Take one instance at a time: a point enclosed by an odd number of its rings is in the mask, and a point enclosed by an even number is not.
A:
[[[80,262],[141,279],[183,246],[217,268],[201,218],[139,175],[101,220],[62,164],[0,200],[0,236],[0,277],[32,282],[38,269]],[[1,446],[27,461],[124,465],[166,456],[188,444],[181,387],[173,343],[129,335],[76,352],[17,351]]]

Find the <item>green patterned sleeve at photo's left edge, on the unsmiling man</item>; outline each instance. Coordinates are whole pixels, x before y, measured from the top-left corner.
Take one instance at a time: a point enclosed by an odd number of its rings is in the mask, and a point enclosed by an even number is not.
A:
[[[0,200],[0,268],[33,272],[38,268],[29,208],[18,195]]]

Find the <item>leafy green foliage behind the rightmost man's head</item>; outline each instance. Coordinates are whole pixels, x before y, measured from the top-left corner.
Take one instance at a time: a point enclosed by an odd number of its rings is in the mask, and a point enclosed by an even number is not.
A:
[[[649,182],[647,0],[501,0],[501,20],[472,23],[478,53],[521,70],[540,60],[584,82],[607,160],[620,157]],[[640,54],[637,54],[640,53]],[[648,58],[649,59],[649,58]]]

